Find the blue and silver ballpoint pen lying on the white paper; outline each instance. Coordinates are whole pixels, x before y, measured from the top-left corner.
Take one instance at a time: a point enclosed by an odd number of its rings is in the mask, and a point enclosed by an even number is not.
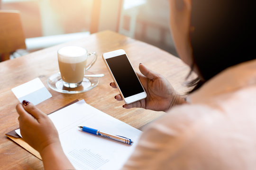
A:
[[[100,136],[107,137],[109,139],[113,139],[113,140],[116,140],[116,141],[119,141],[119,142],[122,142],[122,143],[125,143],[125,144],[133,144],[133,141],[131,139],[128,139],[127,137],[118,136],[118,135],[111,135],[111,134],[108,134],[108,133],[105,133],[105,132],[101,132],[100,130],[93,129],[93,128],[90,128],[90,127],[85,127],[85,126],[79,126],[79,128],[81,128],[82,131],[88,132],[90,134],[100,135]]]

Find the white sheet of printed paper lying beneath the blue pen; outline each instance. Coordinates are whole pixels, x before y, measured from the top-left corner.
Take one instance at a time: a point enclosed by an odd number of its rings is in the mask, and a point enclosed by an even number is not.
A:
[[[133,152],[141,131],[85,103],[76,102],[50,115],[64,153],[78,170],[118,170]],[[99,129],[134,141],[128,145],[83,132],[78,126]],[[16,132],[20,135],[19,129]]]

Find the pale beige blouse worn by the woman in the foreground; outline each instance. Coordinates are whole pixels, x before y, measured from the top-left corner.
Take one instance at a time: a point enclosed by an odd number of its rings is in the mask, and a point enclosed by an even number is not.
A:
[[[256,170],[256,60],[189,97],[146,127],[123,169]]]

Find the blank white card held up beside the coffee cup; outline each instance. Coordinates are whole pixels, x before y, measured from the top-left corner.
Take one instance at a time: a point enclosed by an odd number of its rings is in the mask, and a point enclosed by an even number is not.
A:
[[[18,98],[19,102],[26,100],[34,105],[52,97],[52,94],[46,89],[39,78],[14,87],[11,91]]]

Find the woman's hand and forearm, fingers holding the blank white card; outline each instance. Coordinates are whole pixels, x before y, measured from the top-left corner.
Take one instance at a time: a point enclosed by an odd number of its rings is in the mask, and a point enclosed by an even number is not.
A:
[[[23,101],[16,106],[22,138],[36,149],[44,163],[45,170],[73,170],[60,144],[53,122],[32,103]]]

